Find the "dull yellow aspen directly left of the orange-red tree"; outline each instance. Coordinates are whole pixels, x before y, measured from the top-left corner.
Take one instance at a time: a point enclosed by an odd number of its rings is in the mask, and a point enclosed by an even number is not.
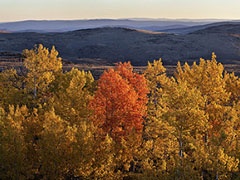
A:
[[[51,106],[55,113],[72,125],[80,121],[89,121],[91,111],[88,108],[92,98],[94,78],[90,72],[72,69],[62,73],[53,83]]]

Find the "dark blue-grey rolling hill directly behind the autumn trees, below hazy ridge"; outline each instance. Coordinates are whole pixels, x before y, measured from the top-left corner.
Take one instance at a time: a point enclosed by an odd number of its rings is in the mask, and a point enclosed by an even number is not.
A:
[[[164,64],[209,58],[224,63],[240,61],[240,23],[207,27],[176,35],[127,28],[94,28],[63,33],[0,33],[0,52],[19,53],[35,44],[56,46],[60,56],[76,63],[112,65],[131,61],[146,65],[162,58]]]

